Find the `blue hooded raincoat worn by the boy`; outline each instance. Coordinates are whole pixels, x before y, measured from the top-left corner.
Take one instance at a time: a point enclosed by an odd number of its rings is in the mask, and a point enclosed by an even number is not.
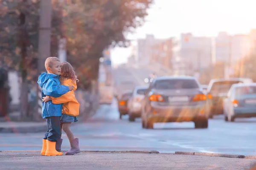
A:
[[[59,76],[44,72],[38,77],[38,85],[42,88],[42,99],[45,96],[60,97],[69,92],[66,85],[61,85]],[[42,117],[61,116],[62,104],[55,105],[52,100],[42,102]]]

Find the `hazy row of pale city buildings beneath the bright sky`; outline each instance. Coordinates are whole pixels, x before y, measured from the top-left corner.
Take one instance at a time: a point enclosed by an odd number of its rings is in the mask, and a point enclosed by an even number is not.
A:
[[[243,57],[256,54],[256,30],[249,34],[229,35],[219,32],[216,37],[196,37],[191,33],[171,39],[156,39],[146,35],[137,40],[130,62],[137,66],[155,64],[171,68],[177,75],[200,75],[217,62],[233,65]]]

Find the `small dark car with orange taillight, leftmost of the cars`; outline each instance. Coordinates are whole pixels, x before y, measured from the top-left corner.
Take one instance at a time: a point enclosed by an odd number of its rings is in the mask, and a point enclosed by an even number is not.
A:
[[[122,115],[128,114],[127,102],[131,96],[132,91],[126,91],[120,96],[120,99],[118,99],[119,119],[122,119]]]

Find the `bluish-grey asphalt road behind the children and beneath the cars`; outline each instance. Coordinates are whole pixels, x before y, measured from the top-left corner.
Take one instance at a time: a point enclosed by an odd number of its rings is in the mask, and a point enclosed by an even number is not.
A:
[[[122,68],[125,69],[125,68]],[[125,71],[141,84],[146,70]],[[122,77],[122,76],[120,76]],[[125,77],[123,77],[125,79]],[[135,81],[134,80],[134,81]],[[76,124],[76,125],[75,125]],[[210,153],[233,153],[256,155],[256,119],[236,119],[224,122],[223,116],[209,120],[207,129],[194,129],[194,123],[158,123],[154,129],[141,127],[141,120],[128,122],[128,116],[119,120],[116,101],[102,105],[96,115],[84,123],[74,123],[75,137],[79,138],[81,150],[158,150],[160,153],[193,151]],[[0,150],[40,150],[44,133],[2,133]],[[62,149],[69,149],[63,135]]]

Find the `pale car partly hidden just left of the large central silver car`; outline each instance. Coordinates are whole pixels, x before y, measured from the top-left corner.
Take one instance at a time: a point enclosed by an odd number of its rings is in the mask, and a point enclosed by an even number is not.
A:
[[[129,121],[134,122],[135,118],[141,116],[141,101],[145,96],[145,91],[148,87],[134,88],[131,98],[128,100]]]

